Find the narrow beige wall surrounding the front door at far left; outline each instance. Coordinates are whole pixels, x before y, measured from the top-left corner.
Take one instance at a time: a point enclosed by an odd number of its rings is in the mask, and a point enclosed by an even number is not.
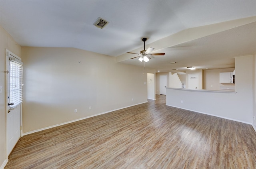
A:
[[[6,49],[21,57],[21,47],[0,26],[0,167],[7,159],[6,157]]]

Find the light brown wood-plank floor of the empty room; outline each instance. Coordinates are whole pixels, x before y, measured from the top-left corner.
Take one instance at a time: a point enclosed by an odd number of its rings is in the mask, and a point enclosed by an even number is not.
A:
[[[252,126],[165,99],[24,136],[5,169],[256,169]]]

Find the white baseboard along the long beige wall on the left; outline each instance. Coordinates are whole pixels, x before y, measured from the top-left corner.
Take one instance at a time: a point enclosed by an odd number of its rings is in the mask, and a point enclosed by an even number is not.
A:
[[[142,102],[142,103],[138,103],[138,104],[143,104],[143,103],[147,103],[147,102]],[[38,129],[38,130],[33,130],[33,131],[30,131],[30,132],[23,133],[22,136],[25,136],[25,135],[28,135],[28,134],[32,134],[32,133],[36,133],[36,132],[40,132],[40,131],[47,130],[47,129],[50,129],[50,128],[62,126],[62,125],[64,125],[64,124],[69,124],[69,123],[77,122],[77,121],[80,121],[80,120],[84,120],[84,119],[86,119],[86,118],[91,118],[91,117],[94,117],[94,116],[99,116],[99,115],[101,115],[101,114],[106,114],[106,113],[114,112],[114,111],[116,111],[116,110],[121,110],[121,109],[123,109],[123,108],[128,108],[128,107],[136,106],[136,105],[138,105],[138,104],[133,104],[133,105],[125,106],[125,107],[122,107],[122,108],[117,108],[117,109],[114,109],[114,110],[109,110],[109,111],[107,111],[107,112],[102,112],[102,113],[94,114],[94,115],[92,115],[92,116],[86,116],[86,117],[83,117],[83,118],[78,118],[78,119],[76,119],[76,120],[71,120],[71,121],[69,121],[69,122],[64,122],[64,123],[56,124],[56,125],[49,126],[49,127],[45,127],[45,128],[40,128],[40,129]]]

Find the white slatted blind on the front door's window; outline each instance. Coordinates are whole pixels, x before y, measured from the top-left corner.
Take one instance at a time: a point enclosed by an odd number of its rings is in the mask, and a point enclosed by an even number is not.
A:
[[[22,103],[23,66],[10,58],[10,103],[11,107]]]

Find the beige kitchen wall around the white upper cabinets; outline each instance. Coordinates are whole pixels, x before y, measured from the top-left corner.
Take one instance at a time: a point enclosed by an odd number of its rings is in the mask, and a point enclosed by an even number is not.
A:
[[[221,84],[221,72],[233,72],[235,68],[204,70],[204,87],[206,90],[220,90],[220,86],[234,87],[234,84]]]

